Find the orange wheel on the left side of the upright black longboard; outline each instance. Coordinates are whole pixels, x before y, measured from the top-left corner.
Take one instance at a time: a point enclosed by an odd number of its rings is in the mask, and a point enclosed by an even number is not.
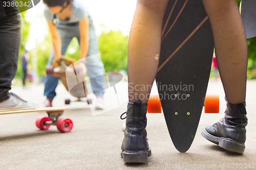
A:
[[[151,94],[147,101],[147,113],[162,113],[161,101],[158,94]]]

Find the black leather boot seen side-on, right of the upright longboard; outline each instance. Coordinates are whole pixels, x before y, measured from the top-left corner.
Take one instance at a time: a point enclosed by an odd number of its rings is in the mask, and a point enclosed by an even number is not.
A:
[[[233,105],[227,101],[225,117],[203,129],[201,135],[225,150],[243,154],[247,125],[245,106],[245,103]]]

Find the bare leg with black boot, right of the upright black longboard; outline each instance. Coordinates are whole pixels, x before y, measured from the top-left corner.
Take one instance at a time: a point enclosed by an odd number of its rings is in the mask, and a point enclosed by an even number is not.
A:
[[[247,41],[236,0],[203,0],[215,40],[220,77],[226,94],[225,117],[202,130],[225,150],[243,154],[247,125],[245,109]]]

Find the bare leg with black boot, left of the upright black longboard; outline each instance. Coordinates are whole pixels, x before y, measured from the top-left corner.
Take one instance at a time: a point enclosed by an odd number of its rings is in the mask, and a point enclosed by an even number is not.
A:
[[[151,155],[147,142],[147,99],[156,77],[163,25],[169,0],[138,0],[128,45],[129,102],[121,145],[125,163],[145,163]],[[124,113],[123,113],[124,114]]]

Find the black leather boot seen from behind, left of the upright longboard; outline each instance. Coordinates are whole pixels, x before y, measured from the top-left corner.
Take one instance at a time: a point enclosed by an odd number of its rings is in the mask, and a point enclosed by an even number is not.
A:
[[[121,145],[121,157],[125,163],[145,163],[151,155],[146,138],[146,112],[147,104],[141,104],[140,100],[128,103],[126,128]],[[124,119],[122,115],[121,119]]]

